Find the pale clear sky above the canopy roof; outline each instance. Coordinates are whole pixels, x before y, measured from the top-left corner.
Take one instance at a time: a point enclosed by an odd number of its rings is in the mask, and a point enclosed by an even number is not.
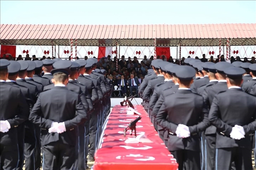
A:
[[[1,24],[256,23],[255,0],[0,1]]]

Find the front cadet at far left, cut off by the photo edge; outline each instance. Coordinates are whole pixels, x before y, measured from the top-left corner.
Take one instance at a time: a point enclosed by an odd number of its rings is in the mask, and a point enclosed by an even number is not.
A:
[[[9,65],[7,59],[0,60],[0,169],[16,170],[21,140],[17,127],[28,119],[29,107],[21,89],[6,83]]]

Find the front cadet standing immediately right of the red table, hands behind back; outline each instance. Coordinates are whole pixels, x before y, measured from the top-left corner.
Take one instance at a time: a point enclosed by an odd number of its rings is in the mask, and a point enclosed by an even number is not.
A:
[[[210,124],[208,109],[202,96],[192,93],[189,88],[195,69],[191,66],[178,66],[175,74],[179,88],[177,92],[164,97],[156,122],[170,133],[167,147],[177,160],[178,169],[199,170],[199,133]]]

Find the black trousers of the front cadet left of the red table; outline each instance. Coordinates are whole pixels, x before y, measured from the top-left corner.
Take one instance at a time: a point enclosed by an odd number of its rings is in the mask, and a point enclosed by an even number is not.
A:
[[[42,146],[43,170],[73,170],[76,147],[60,141]]]

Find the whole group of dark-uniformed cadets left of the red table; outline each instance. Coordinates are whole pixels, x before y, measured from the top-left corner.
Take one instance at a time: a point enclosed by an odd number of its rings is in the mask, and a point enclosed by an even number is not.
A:
[[[0,169],[40,170],[41,146],[44,169],[88,168],[113,90],[97,62],[0,60]]]

